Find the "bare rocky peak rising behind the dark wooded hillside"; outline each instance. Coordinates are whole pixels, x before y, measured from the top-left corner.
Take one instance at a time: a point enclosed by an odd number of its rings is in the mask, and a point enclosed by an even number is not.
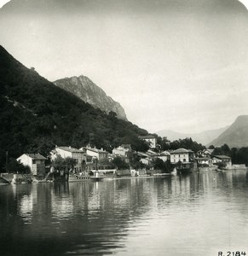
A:
[[[84,76],[59,79],[54,84],[63,90],[72,92],[84,102],[88,102],[94,108],[100,108],[101,111],[117,113],[119,119],[127,120],[124,108],[118,102],[107,96],[104,90],[101,90],[90,79]]]

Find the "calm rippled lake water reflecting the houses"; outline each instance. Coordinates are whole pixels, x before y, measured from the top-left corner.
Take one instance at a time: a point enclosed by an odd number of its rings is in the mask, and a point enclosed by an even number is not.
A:
[[[0,186],[0,255],[248,255],[248,173]]]

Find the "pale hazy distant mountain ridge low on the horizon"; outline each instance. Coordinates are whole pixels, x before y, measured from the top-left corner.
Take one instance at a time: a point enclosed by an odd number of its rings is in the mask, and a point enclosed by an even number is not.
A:
[[[199,133],[180,133],[180,132],[170,131],[170,130],[161,130],[161,131],[157,131],[156,133],[160,137],[167,137],[170,141],[191,137],[193,141],[196,141],[197,143],[201,143],[203,145],[207,145],[213,139],[215,139],[220,134],[222,134],[222,132],[225,131],[227,128],[228,126],[220,129],[216,129],[216,130],[202,131]]]

